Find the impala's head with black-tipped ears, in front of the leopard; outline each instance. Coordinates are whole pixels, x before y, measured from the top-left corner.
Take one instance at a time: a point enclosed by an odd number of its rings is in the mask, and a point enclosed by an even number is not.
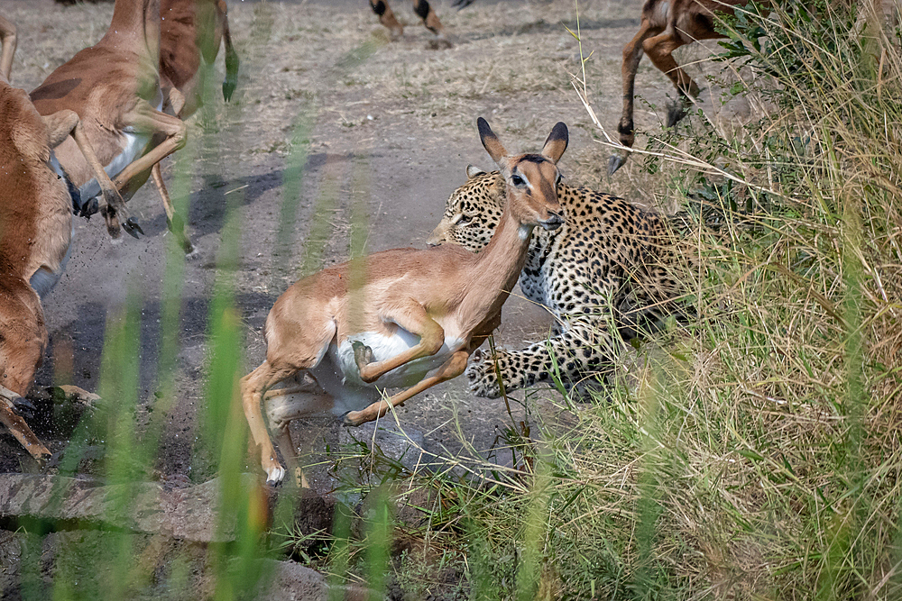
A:
[[[541,225],[546,230],[556,230],[564,223],[561,205],[557,204],[557,183],[561,174],[557,161],[567,145],[567,130],[558,122],[541,154],[510,155],[504,150],[498,136],[480,117],[476,121],[479,137],[485,150],[501,169],[507,185],[506,210],[511,211],[522,225]]]

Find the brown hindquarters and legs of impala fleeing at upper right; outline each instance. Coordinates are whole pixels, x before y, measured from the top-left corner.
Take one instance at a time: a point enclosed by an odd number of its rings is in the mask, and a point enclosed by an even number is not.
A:
[[[673,51],[698,40],[723,38],[715,32],[715,12],[733,14],[733,6],[744,6],[748,0],[646,0],[642,7],[642,23],[639,32],[623,47],[623,114],[617,128],[621,144],[632,147],[636,134],[633,123],[633,96],[635,96],[636,72],[642,52],[662,73],[673,82],[680,96],[698,96],[699,89],[692,77],[673,58]],[[667,114],[667,126],[671,127],[686,115],[682,100],[671,105]],[[612,156],[608,173],[621,167],[625,156]]]

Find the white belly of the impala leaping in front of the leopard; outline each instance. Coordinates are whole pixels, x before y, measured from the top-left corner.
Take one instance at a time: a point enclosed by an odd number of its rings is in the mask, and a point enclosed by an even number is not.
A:
[[[407,388],[417,384],[430,375],[430,372],[444,365],[463,345],[461,339],[446,335],[445,344],[435,355],[405,363],[373,384],[366,384],[360,379],[360,371],[354,361],[352,341],[363,342],[373,350],[373,360],[382,361],[415,346],[419,342],[419,336],[398,328],[391,336],[380,332],[361,332],[339,345],[330,345],[317,367],[309,369],[309,372],[317,379],[319,386],[335,398],[332,413],[336,415],[363,409],[378,400],[384,388]]]

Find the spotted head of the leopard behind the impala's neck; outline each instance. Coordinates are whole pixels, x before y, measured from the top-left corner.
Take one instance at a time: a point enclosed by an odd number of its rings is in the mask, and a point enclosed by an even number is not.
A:
[[[430,246],[447,242],[477,252],[492,240],[504,210],[504,178],[473,165],[467,166],[466,178],[448,198],[445,215],[427,241]]]

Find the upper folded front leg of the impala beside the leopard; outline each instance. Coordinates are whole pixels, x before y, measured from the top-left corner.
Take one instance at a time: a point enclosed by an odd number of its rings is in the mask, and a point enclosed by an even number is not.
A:
[[[360,370],[360,379],[367,384],[405,363],[436,354],[445,344],[445,330],[436,320],[429,317],[426,309],[419,303],[411,302],[410,305],[400,307],[399,310],[382,317],[385,321],[397,323],[404,330],[419,336],[419,342],[394,357],[374,362],[370,362],[372,354],[366,347],[359,343],[354,346],[354,360],[357,369]]]

